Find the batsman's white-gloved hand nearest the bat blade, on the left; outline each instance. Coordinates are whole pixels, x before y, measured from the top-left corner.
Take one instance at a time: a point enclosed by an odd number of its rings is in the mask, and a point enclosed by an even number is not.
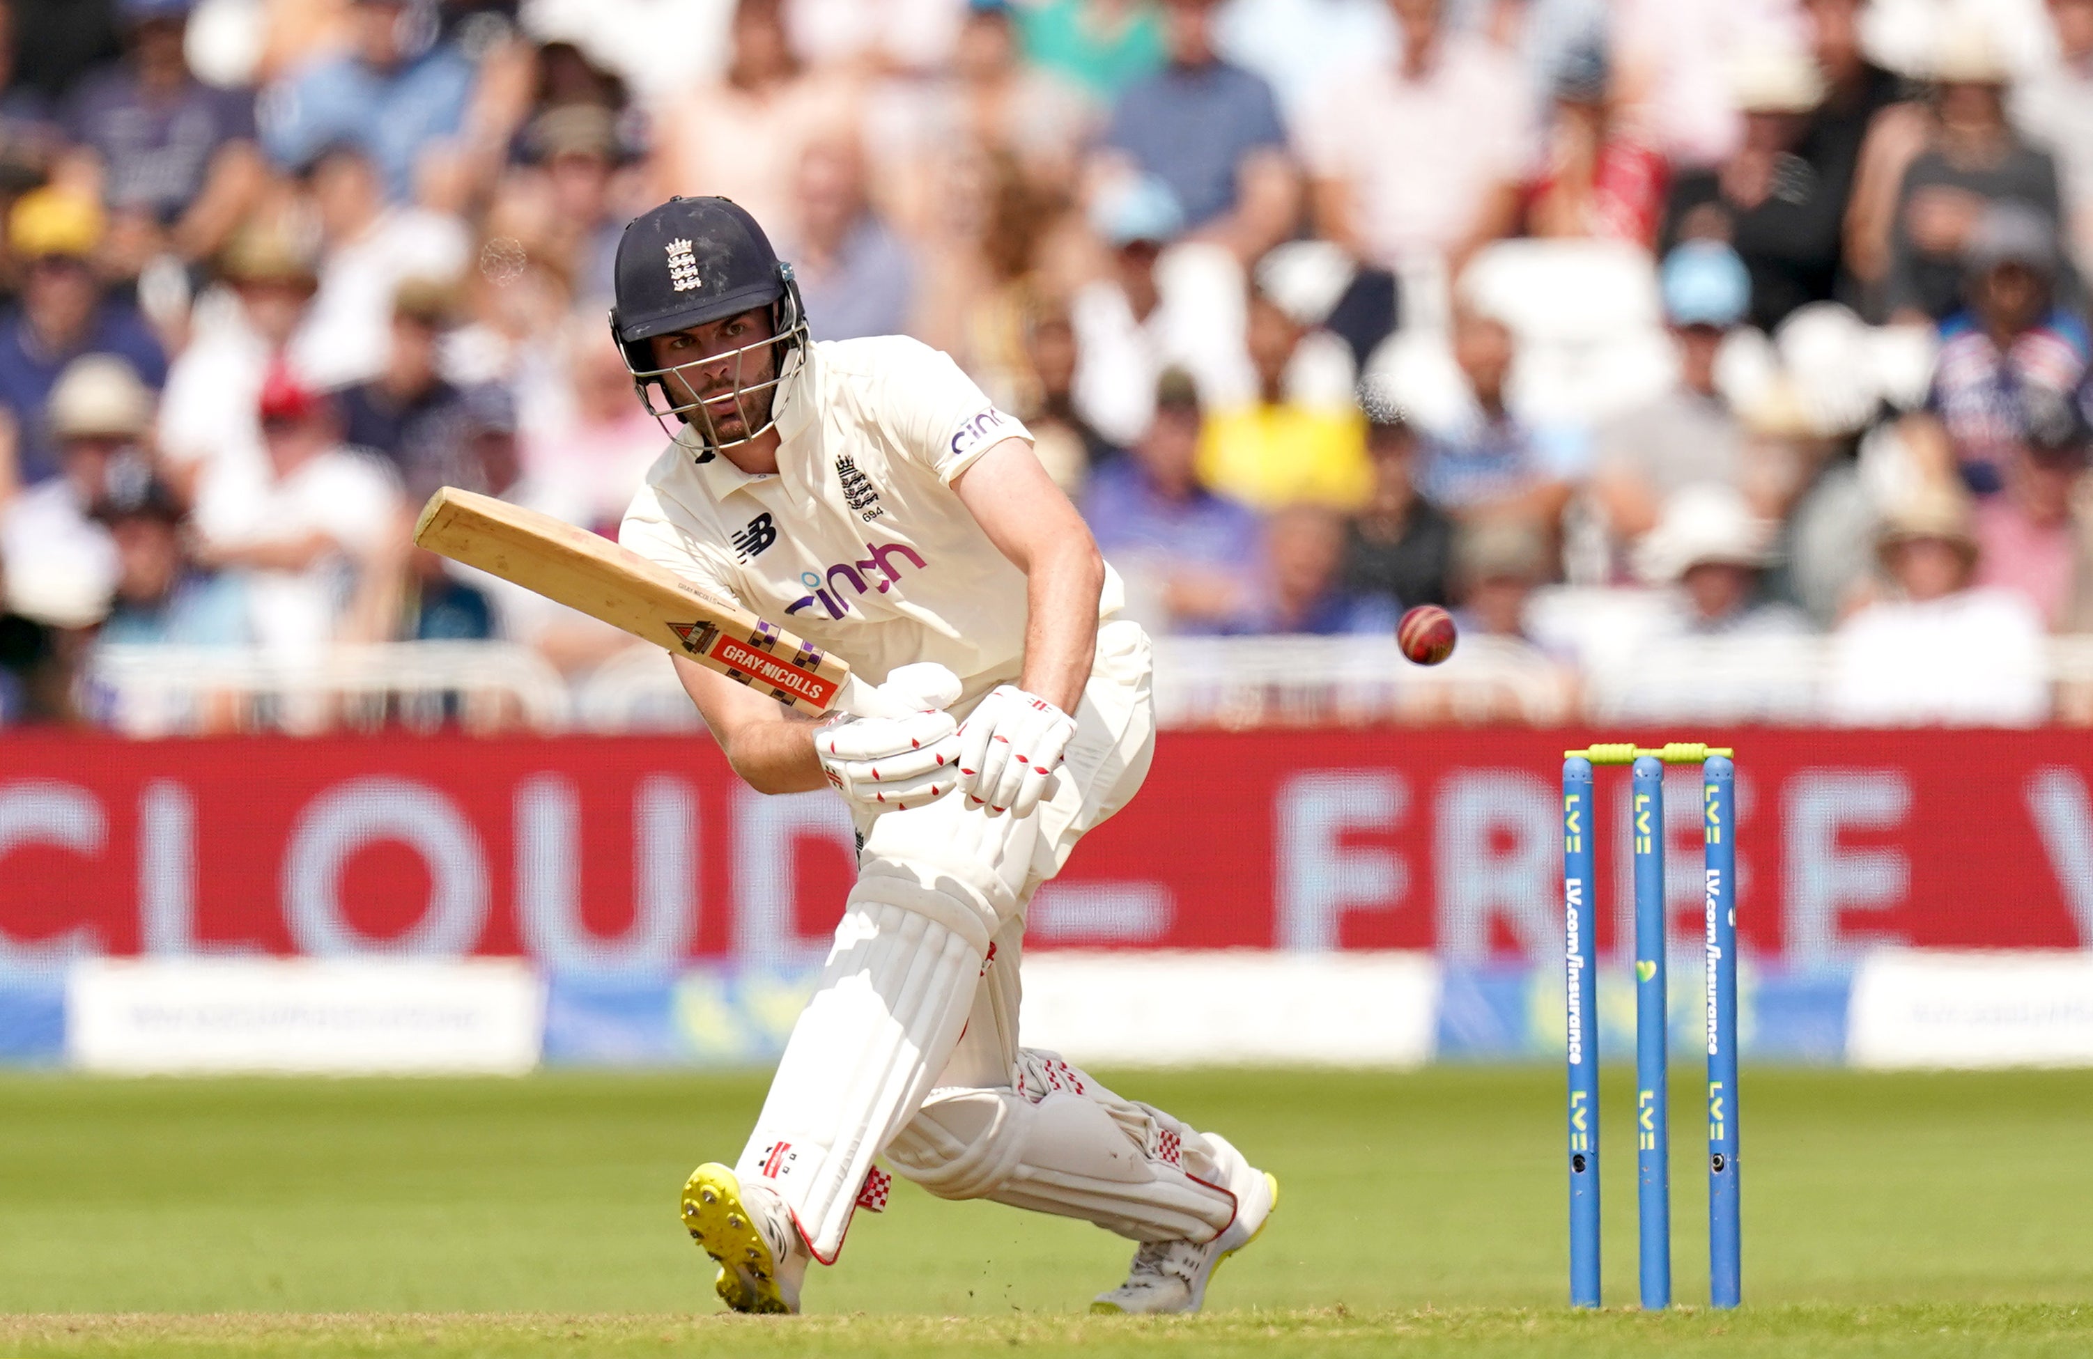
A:
[[[959,697],[959,681],[944,666],[902,666],[879,693],[915,712],[823,722],[814,733],[823,775],[846,802],[869,812],[904,812],[952,792],[959,722],[944,708]]]

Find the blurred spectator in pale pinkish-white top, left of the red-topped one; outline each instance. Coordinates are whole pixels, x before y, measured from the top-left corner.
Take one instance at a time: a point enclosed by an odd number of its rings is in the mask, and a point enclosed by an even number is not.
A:
[[[1316,232],[1388,270],[1459,260],[1490,191],[1526,170],[1520,69],[1448,31],[1440,0],[1392,0],[1402,54],[1331,82],[1300,119]]]

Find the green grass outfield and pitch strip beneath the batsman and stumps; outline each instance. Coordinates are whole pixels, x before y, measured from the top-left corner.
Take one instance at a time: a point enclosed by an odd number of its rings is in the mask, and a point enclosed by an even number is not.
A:
[[[676,1189],[695,1160],[733,1158],[760,1078],[6,1076],[0,1359],[2093,1351],[2093,1072],[1748,1070],[1746,1309],[1666,1317],[1630,1307],[1626,1072],[1607,1091],[1597,1317],[1563,1307],[1559,1070],[1113,1085],[1283,1183],[1197,1321],[1084,1317],[1122,1242],[913,1185],[816,1271],[814,1317],[714,1317]],[[1683,1302],[1706,1296],[1695,1089],[1681,1068]]]

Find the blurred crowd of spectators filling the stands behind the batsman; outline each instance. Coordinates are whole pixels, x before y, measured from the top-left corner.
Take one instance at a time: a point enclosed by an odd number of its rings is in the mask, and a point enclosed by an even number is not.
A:
[[[1838,720],[2030,722],[2093,630],[2093,0],[0,19],[0,720],[111,645],[630,645],[408,534],[615,532],[674,193],[1026,419],[1162,634],[1823,634]]]

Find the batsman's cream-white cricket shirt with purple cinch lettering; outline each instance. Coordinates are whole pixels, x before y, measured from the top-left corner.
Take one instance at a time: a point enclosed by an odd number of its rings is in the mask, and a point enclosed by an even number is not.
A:
[[[779,389],[779,471],[670,444],[617,538],[710,595],[850,662],[869,683],[938,662],[967,695],[1015,681],[1026,576],[952,477],[1030,442],[946,354],[883,335],[810,343]],[[1099,616],[1122,607],[1107,567]]]

